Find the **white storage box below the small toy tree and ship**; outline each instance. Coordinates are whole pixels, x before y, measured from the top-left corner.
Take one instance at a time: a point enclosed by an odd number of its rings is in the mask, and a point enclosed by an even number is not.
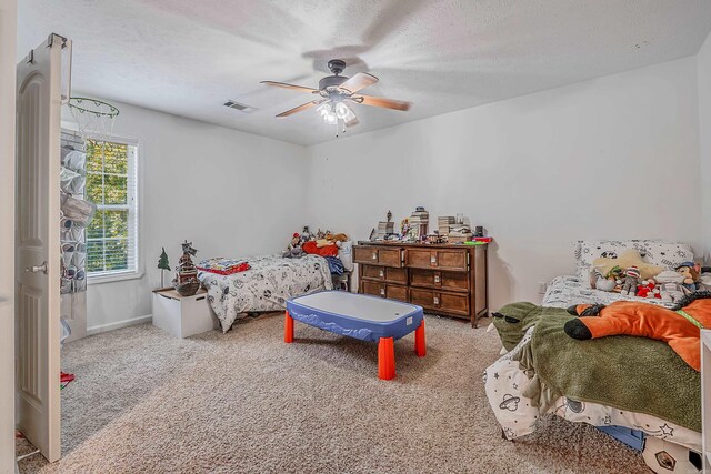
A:
[[[153,325],[176,337],[189,337],[219,327],[208,292],[200,289],[192,296],[181,296],[173,289],[153,291]]]

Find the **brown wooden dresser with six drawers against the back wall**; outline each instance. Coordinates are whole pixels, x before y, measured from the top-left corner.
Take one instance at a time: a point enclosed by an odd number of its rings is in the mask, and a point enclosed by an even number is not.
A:
[[[358,242],[358,292],[413,303],[477,326],[488,311],[487,246]]]

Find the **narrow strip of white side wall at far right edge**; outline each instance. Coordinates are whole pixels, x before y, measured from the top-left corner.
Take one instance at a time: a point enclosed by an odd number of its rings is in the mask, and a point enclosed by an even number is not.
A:
[[[711,264],[711,34],[697,57],[699,68],[699,138],[701,145],[701,202],[703,243]]]

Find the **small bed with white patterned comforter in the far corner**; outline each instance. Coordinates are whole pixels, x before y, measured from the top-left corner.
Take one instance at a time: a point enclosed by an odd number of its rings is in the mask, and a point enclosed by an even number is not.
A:
[[[284,259],[274,254],[243,260],[250,265],[246,272],[231,275],[198,273],[222,332],[229,331],[246,312],[281,311],[290,297],[333,288],[328,262],[322,256]]]

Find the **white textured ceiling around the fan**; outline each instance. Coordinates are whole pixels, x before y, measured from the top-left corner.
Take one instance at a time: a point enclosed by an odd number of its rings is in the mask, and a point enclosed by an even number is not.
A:
[[[300,144],[332,140],[316,111],[277,119],[326,62],[368,71],[348,134],[694,54],[709,0],[21,0],[18,58],[50,32],[73,40],[73,88]],[[258,110],[244,114],[222,103]]]

